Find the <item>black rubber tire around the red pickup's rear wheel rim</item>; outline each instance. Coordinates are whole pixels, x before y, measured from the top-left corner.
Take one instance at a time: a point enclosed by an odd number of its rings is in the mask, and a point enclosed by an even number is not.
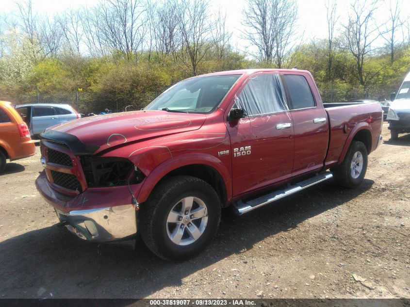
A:
[[[362,168],[359,173],[355,173],[355,178],[352,175],[351,163],[356,152],[360,152],[362,157]],[[347,149],[346,156],[344,157],[343,162],[333,169],[333,176],[337,184],[345,188],[354,188],[361,184],[364,176],[366,175],[367,170],[367,149],[366,146],[359,141],[352,141],[349,149]]]

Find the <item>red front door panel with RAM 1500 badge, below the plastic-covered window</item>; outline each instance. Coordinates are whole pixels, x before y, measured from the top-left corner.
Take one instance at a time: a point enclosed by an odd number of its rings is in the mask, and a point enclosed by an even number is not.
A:
[[[287,113],[277,113],[243,118],[236,125],[228,126],[234,196],[291,176],[294,161],[293,128],[276,128],[278,124],[291,122]],[[246,148],[249,146],[250,149]]]

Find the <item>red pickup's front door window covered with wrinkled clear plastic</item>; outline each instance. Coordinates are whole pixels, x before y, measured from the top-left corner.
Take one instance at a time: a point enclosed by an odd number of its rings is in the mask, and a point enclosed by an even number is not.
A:
[[[284,89],[278,74],[257,74],[250,77],[235,101],[250,115],[287,111]]]

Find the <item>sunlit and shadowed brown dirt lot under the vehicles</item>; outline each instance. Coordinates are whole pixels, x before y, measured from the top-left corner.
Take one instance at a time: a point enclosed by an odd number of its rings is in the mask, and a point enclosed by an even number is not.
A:
[[[91,244],[54,226],[34,187],[37,150],[0,176],[0,297],[409,298],[409,169],[410,135],[384,141],[360,188],[329,181],[224,214],[202,255],[169,263],[141,242],[136,251]]]

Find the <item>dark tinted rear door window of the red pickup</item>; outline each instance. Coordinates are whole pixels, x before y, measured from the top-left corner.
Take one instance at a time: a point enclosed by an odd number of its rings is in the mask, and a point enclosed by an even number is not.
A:
[[[291,110],[312,108],[315,106],[311,87],[302,75],[283,75],[292,100]]]

